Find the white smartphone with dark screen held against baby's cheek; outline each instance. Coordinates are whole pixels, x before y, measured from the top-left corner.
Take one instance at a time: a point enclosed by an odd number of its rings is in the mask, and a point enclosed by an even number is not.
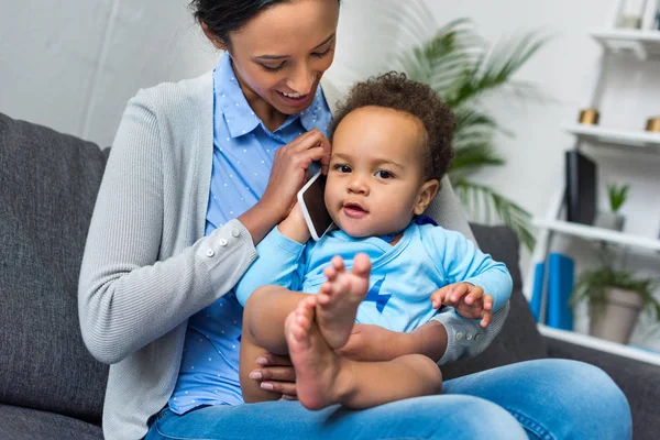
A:
[[[316,241],[332,228],[332,218],[326,208],[326,176],[319,170],[298,191],[298,205],[311,238]]]

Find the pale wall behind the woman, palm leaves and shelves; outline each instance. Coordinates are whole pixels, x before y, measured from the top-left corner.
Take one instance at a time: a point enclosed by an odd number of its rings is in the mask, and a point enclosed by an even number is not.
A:
[[[518,75],[536,84],[546,100],[506,94],[487,99],[487,107],[515,138],[499,140],[507,166],[477,177],[535,216],[544,216],[563,178],[563,152],[574,143],[560,125],[574,121],[579,109],[591,105],[601,48],[587,31],[608,24],[615,0],[421,1],[430,11],[419,25],[421,34],[433,22],[469,16],[492,41],[530,30],[552,35]],[[217,62],[217,52],[193,23],[187,3],[3,0],[0,111],[111,144],[125,102],[139,88],[201,74]],[[344,0],[329,77],[345,88],[386,68],[387,54],[409,41],[397,23],[416,4]],[[389,6],[389,14],[384,6]],[[601,102],[604,125],[639,128],[647,117],[660,113],[660,64],[624,57],[607,66],[613,74]],[[626,228],[647,237],[657,237],[660,229],[658,157],[598,154],[604,182],[632,184],[624,207]]]

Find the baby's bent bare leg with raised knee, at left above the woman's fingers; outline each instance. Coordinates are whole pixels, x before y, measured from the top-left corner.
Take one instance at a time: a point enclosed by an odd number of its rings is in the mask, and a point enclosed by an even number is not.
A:
[[[243,312],[241,360],[239,375],[246,403],[276,400],[280,395],[260,387],[260,382],[249,377],[261,367],[256,360],[266,354],[287,354],[284,321],[300,299],[308,297],[278,286],[260,287],[250,296]]]

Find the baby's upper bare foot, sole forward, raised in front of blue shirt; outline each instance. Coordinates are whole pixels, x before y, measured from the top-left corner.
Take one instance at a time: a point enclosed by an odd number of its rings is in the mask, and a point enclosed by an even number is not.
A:
[[[369,292],[371,262],[366,254],[358,254],[353,270],[346,272],[341,256],[323,271],[328,278],[317,295],[316,316],[321,334],[332,349],[345,345],[358,314],[358,306]]]

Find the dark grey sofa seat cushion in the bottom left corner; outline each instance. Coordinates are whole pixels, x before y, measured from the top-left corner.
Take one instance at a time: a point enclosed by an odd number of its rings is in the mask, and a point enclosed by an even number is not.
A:
[[[36,409],[0,405],[0,439],[11,440],[101,440],[100,427],[72,417]]]

